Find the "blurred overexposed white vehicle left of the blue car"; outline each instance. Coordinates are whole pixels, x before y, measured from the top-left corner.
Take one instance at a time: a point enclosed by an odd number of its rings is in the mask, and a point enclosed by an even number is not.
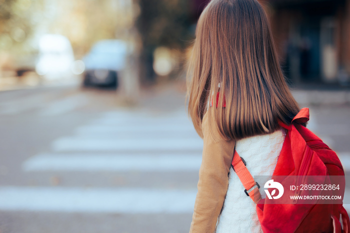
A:
[[[60,34],[45,34],[40,38],[37,74],[46,79],[69,78],[73,62],[74,53],[68,38]]]

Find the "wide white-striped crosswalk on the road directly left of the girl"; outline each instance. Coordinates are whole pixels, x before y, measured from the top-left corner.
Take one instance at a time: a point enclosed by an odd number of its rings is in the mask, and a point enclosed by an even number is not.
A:
[[[22,163],[27,174],[45,172],[197,173],[202,139],[185,112],[153,114],[146,110],[104,112],[99,118],[57,138],[50,151]],[[192,174],[191,173],[191,174]],[[139,180],[151,183],[152,180]],[[0,210],[95,213],[190,213],[190,188],[123,186],[4,186]]]

